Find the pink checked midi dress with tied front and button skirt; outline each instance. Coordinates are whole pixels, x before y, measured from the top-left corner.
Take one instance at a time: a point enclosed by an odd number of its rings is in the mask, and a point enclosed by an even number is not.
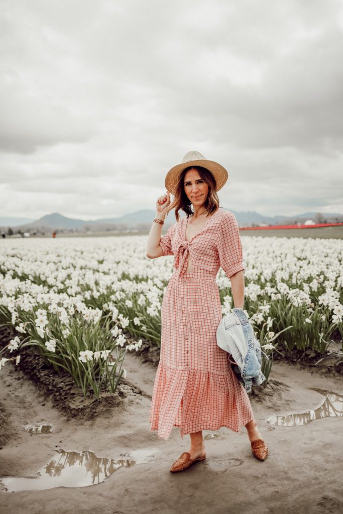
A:
[[[168,439],[227,427],[235,432],[254,418],[249,397],[233,373],[229,356],[216,344],[222,308],[216,275],[244,270],[234,215],[221,207],[190,241],[187,217],[160,238],[163,255],[174,255],[173,273],[161,303],[160,359],[149,423]],[[192,272],[185,272],[188,253]]]

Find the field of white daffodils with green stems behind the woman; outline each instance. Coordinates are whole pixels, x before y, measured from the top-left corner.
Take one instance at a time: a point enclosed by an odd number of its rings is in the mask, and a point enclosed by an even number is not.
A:
[[[3,240],[0,325],[16,336],[0,369],[36,345],[84,395],[115,392],[125,354],[141,338],[159,345],[160,308],[173,256],[149,259],[146,236]],[[324,354],[343,336],[343,241],[242,236],[245,311],[266,354],[312,348]],[[216,278],[223,315],[233,307],[230,281]],[[123,331],[130,333],[129,342]],[[12,353],[12,352],[15,352]],[[15,356],[14,356],[15,355]],[[264,360],[270,372],[272,359]]]

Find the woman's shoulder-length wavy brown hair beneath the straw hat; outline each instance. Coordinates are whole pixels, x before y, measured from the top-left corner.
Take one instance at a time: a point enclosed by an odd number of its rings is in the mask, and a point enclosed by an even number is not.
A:
[[[194,214],[191,209],[192,203],[186,195],[184,188],[184,178],[188,170],[196,170],[208,185],[208,193],[204,204],[208,214],[214,213],[219,208],[219,198],[216,193],[216,181],[212,173],[207,168],[203,168],[202,166],[189,166],[180,173],[176,184],[174,200],[164,211],[168,214],[169,211],[175,209],[175,218],[177,222],[180,219],[180,215],[178,213],[180,209],[186,213],[187,217]]]

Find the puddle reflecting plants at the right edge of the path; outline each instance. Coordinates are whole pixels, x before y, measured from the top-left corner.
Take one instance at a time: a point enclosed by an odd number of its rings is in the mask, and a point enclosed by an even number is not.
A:
[[[318,388],[310,389],[317,391],[325,397],[319,407],[302,413],[272,416],[268,419],[268,423],[279,427],[298,427],[310,423],[313,419],[343,416],[343,395]]]

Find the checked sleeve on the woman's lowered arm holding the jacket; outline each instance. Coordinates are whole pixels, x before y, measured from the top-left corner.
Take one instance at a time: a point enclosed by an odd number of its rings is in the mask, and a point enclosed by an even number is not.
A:
[[[243,249],[236,217],[226,211],[217,239],[220,265],[230,278],[234,273],[243,271]]]

